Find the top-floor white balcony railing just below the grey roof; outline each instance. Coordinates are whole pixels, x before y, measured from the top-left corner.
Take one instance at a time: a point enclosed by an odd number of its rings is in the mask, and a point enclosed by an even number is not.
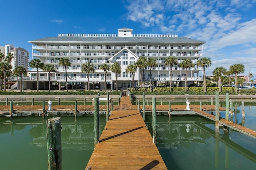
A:
[[[66,49],[145,49],[145,50],[202,50],[202,46],[114,46],[114,45],[34,45],[35,50],[66,50]]]

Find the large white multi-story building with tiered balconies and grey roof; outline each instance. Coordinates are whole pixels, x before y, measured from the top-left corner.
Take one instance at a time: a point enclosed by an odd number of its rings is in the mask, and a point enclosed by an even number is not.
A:
[[[32,43],[33,58],[39,58],[45,64],[55,66],[57,72],[51,73],[52,84],[61,86],[65,80],[65,69],[59,65],[59,59],[68,57],[71,67],[68,67],[68,83],[72,87],[86,88],[88,81],[87,73],[81,72],[83,63],[93,63],[95,72],[90,74],[90,89],[99,87],[104,89],[104,71],[100,70],[103,63],[109,66],[118,62],[121,66],[121,74],[118,75],[118,88],[132,86],[132,75],[126,73],[129,64],[134,64],[141,56],[147,59],[154,58],[157,67],[152,68],[152,82],[156,86],[161,83],[170,82],[170,67],[165,65],[168,56],[177,58],[178,63],[184,59],[190,59],[196,65],[197,60],[202,57],[202,45],[206,42],[194,40],[178,35],[166,34],[132,34],[132,29],[118,29],[118,34],[59,34],[58,37],[41,38],[30,41]],[[202,81],[199,76],[201,67],[188,69],[188,81]],[[172,81],[175,85],[184,86],[185,69],[174,65],[172,68]],[[150,79],[150,68],[144,71],[145,81]],[[40,89],[48,89],[48,73],[40,71]],[[36,88],[36,69],[28,71],[25,77],[25,88]],[[139,70],[135,73],[134,80],[140,80]],[[110,71],[106,77],[107,89],[115,89],[115,75]],[[134,83],[136,86],[137,84]],[[60,87],[59,86],[59,87]]]

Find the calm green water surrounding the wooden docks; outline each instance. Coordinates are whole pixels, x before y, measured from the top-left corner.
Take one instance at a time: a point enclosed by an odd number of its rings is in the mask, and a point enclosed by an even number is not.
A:
[[[238,104],[230,118],[256,130],[256,106]],[[214,113],[213,113],[214,114]],[[224,112],[221,116],[224,117]],[[46,170],[46,120],[41,117],[0,118],[0,169]],[[106,117],[100,117],[100,130]],[[94,117],[62,117],[63,170],[84,170],[94,148]],[[152,118],[146,117],[152,131]],[[256,169],[256,140],[234,130],[216,135],[215,124],[198,116],[157,116],[157,147],[168,169]]]

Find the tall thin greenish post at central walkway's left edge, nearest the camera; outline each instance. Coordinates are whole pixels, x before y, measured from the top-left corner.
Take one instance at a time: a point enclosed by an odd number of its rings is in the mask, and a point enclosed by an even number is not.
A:
[[[99,98],[94,97],[94,148],[100,140]]]

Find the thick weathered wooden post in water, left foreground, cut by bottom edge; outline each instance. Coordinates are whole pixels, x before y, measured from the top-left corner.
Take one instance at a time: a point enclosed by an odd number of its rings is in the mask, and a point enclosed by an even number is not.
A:
[[[61,118],[48,119],[46,126],[48,170],[62,170]]]

